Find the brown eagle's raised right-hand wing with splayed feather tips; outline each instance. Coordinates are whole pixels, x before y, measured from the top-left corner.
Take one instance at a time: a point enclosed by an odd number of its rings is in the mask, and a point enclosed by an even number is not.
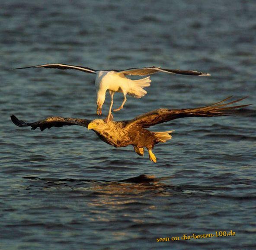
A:
[[[224,103],[225,101],[229,100],[232,96],[219,101],[217,103],[211,104],[209,106],[201,107],[201,108],[188,108],[188,109],[167,109],[167,108],[160,108],[154,111],[150,111],[146,114],[142,114],[140,116],[135,117],[132,120],[124,121],[125,127],[134,127],[134,126],[141,126],[144,128],[148,128],[150,126],[154,126],[159,123],[168,122],[170,120],[184,118],[184,117],[213,117],[213,116],[225,116],[234,109],[243,108],[249,106],[251,104],[239,105],[239,106],[231,106],[227,107],[230,104],[236,103],[238,101],[242,101],[244,98],[240,98],[235,101],[230,101]]]

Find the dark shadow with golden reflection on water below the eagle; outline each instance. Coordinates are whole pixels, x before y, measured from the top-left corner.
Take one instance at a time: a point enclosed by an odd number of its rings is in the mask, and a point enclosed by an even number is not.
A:
[[[123,180],[92,180],[92,179],[72,179],[72,178],[40,178],[27,176],[22,177],[29,180],[26,190],[33,189],[58,189],[69,192],[89,192],[90,195],[97,194],[144,194],[144,195],[180,195],[191,193],[205,193],[213,195],[218,190],[229,190],[228,187],[213,187],[202,185],[172,185],[169,177],[156,178],[154,175],[141,174]],[[166,184],[165,182],[169,182]]]

